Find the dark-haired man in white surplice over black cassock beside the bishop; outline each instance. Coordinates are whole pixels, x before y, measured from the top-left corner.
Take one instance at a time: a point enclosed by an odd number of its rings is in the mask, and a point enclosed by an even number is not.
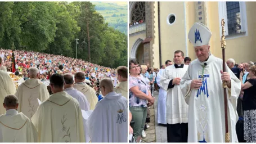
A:
[[[167,141],[187,142],[188,105],[179,86],[181,78],[186,73],[188,65],[184,65],[184,53],[174,52],[174,65],[168,66],[159,75],[160,86],[167,91],[166,121]]]

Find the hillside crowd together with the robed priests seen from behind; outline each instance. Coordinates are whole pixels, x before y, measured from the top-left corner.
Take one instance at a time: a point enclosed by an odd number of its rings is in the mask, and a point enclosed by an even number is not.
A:
[[[0,142],[127,142],[126,66],[14,54],[12,73],[12,51],[0,51]]]

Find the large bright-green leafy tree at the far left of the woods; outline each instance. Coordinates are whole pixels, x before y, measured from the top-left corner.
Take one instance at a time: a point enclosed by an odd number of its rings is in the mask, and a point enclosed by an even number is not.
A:
[[[10,48],[14,42],[16,48],[42,51],[54,40],[56,21],[53,14],[56,7],[52,2],[12,2],[4,5],[10,7],[5,8],[8,27],[5,27],[1,38],[2,47]]]

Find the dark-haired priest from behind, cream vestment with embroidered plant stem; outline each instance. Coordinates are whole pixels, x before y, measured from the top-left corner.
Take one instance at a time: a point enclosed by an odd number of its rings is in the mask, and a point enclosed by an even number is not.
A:
[[[85,142],[83,116],[78,101],[64,91],[64,77],[50,77],[53,95],[39,105],[32,117],[39,142]]]

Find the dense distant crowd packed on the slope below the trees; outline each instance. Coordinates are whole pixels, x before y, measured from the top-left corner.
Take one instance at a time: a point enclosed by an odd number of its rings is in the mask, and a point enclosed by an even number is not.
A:
[[[7,71],[12,71],[12,50],[0,49],[0,56],[3,59],[3,66]],[[15,69],[21,73],[24,80],[28,79],[29,68],[39,69],[39,79],[41,81],[49,80],[50,75],[74,74],[83,71],[86,73],[87,82],[97,91],[97,79],[108,77],[114,82],[116,86],[118,80],[116,69],[106,68],[91,62],[83,61],[81,59],[74,59],[71,57],[51,55],[47,53],[33,52],[33,51],[14,51]],[[19,75],[17,73],[17,75]],[[23,81],[21,80],[21,83]]]

